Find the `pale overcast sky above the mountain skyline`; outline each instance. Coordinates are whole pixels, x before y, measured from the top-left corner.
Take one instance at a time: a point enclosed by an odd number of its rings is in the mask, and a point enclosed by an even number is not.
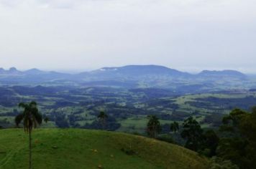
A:
[[[255,0],[0,0],[0,67],[256,73]]]

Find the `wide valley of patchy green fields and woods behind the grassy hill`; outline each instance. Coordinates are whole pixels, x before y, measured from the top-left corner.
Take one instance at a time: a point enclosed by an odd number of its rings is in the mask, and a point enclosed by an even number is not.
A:
[[[40,112],[49,117],[42,127],[76,127],[100,129],[97,115],[109,115],[107,130],[145,134],[147,115],[157,115],[161,125],[189,116],[202,127],[217,127],[222,115],[235,107],[250,110],[256,105],[256,93],[228,90],[196,94],[174,94],[171,90],[118,87],[0,87],[0,126],[13,127],[20,111],[19,102],[38,103]],[[166,132],[166,130],[165,130]]]

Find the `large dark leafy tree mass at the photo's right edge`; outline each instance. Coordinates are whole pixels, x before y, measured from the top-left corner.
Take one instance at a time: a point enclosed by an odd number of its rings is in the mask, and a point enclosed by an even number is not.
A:
[[[254,168],[256,165],[255,110],[255,107],[251,113],[239,109],[232,110],[224,117],[224,125],[221,127],[224,137],[219,143],[217,155],[231,160],[242,169]]]

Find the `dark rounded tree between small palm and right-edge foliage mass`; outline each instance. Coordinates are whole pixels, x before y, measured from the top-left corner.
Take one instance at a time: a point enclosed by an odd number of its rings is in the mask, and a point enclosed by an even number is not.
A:
[[[193,117],[188,117],[188,119],[184,120],[183,131],[180,135],[186,139],[186,148],[194,151],[200,150],[201,143],[203,142],[203,130]]]

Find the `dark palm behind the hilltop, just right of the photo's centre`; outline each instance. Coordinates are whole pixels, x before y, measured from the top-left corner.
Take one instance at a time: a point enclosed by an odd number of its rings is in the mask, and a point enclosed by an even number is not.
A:
[[[155,115],[149,115],[149,121],[147,122],[147,134],[150,137],[155,138],[161,131],[160,121]]]

